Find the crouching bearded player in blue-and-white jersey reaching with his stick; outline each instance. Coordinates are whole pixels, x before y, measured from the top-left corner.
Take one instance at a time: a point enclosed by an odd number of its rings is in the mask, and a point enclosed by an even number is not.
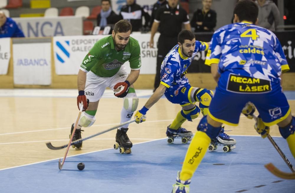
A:
[[[193,133],[182,128],[181,125],[186,119],[189,121],[196,119],[200,112],[207,115],[213,92],[192,87],[186,77],[186,72],[196,53],[207,49],[208,44],[196,41],[191,31],[183,30],[178,34],[178,44],[169,51],[162,62],[159,87],[144,107],[135,114],[137,123],[145,121],[146,112],[165,94],[170,102],[180,104],[182,107],[176,118],[167,127],[168,143],[172,143],[175,137],[181,137],[183,143],[191,140]],[[196,102],[199,102],[200,108],[195,105]],[[235,139],[224,133],[224,130],[215,140],[228,145],[236,143]]]

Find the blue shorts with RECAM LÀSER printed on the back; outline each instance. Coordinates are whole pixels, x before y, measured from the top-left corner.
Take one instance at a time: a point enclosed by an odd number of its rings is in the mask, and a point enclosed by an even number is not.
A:
[[[249,101],[255,105],[266,126],[281,122],[291,112],[280,80],[267,81],[224,72],[208,114],[215,121],[236,126]]]

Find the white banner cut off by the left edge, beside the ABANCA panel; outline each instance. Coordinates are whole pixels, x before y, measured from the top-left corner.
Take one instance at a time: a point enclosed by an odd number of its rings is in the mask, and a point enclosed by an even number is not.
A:
[[[0,38],[0,75],[7,74],[10,60],[10,38]]]

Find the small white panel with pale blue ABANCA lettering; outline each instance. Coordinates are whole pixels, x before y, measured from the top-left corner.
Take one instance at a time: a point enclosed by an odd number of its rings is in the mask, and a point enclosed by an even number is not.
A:
[[[51,43],[14,44],[13,53],[14,84],[51,84]]]

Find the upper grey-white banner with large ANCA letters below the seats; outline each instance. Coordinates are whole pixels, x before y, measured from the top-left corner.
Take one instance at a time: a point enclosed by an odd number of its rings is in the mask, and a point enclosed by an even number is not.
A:
[[[83,20],[77,16],[13,18],[25,37],[83,35]]]

